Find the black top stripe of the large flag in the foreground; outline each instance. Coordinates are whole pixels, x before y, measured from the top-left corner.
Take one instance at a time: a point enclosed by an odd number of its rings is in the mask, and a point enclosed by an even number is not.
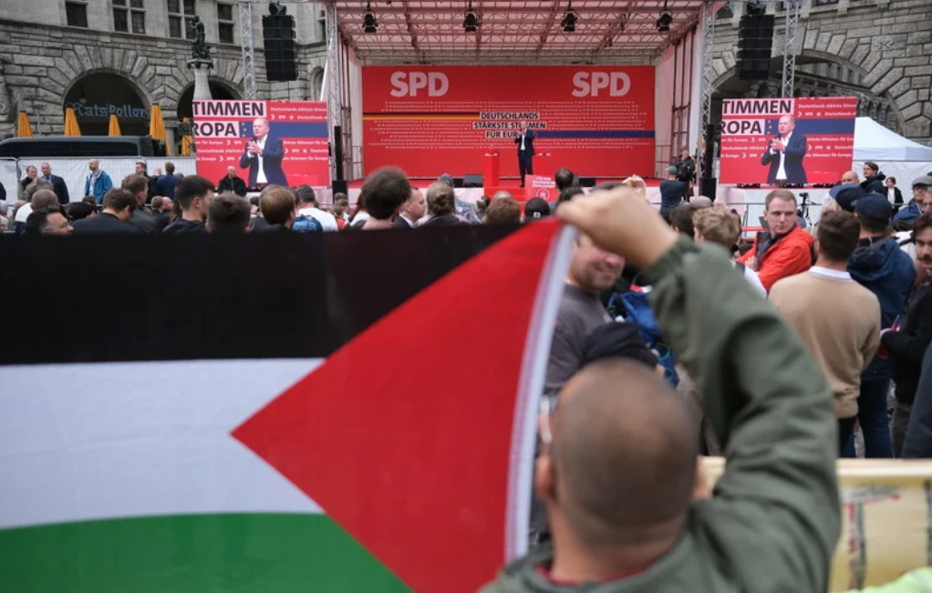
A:
[[[3,237],[0,364],[325,357],[514,229]]]

